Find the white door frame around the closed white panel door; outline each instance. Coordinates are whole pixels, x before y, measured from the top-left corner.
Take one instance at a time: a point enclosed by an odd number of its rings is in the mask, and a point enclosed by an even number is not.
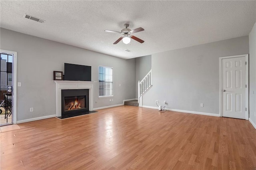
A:
[[[227,56],[227,57],[220,57],[220,117],[222,117],[222,59],[227,59],[227,58],[236,58],[236,57],[245,57],[245,69],[246,69],[246,92],[245,92],[245,106],[246,106],[246,120],[249,119],[249,69],[248,69],[248,54],[243,54],[243,55],[232,55],[232,56]]]

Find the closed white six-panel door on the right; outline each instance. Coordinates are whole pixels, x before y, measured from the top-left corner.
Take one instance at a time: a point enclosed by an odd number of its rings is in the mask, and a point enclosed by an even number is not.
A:
[[[222,59],[222,116],[246,119],[245,57]]]

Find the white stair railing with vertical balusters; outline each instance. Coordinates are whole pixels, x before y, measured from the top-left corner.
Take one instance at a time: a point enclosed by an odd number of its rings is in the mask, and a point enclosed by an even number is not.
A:
[[[152,72],[151,69],[148,74],[138,81],[138,102],[139,106],[142,107],[142,96],[152,87]]]

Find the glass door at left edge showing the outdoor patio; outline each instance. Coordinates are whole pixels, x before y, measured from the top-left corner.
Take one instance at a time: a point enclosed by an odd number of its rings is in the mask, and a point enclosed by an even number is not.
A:
[[[13,55],[0,52],[0,126],[12,124]]]

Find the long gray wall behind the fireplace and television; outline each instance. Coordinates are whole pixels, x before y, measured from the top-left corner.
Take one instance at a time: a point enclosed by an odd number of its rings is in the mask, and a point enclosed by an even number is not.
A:
[[[56,114],[53,71],[64,71],[64,63],[92,66],[92,81],[98,81],[100,65],[113,67],[114,101],[98,99],[98,83],[94,83],[94,108],[135,98],[135,59],[124,60],[3,28],[0,44],[1,49],[18,53],[17,82],[22,87],[17,89],[17,121]]]

